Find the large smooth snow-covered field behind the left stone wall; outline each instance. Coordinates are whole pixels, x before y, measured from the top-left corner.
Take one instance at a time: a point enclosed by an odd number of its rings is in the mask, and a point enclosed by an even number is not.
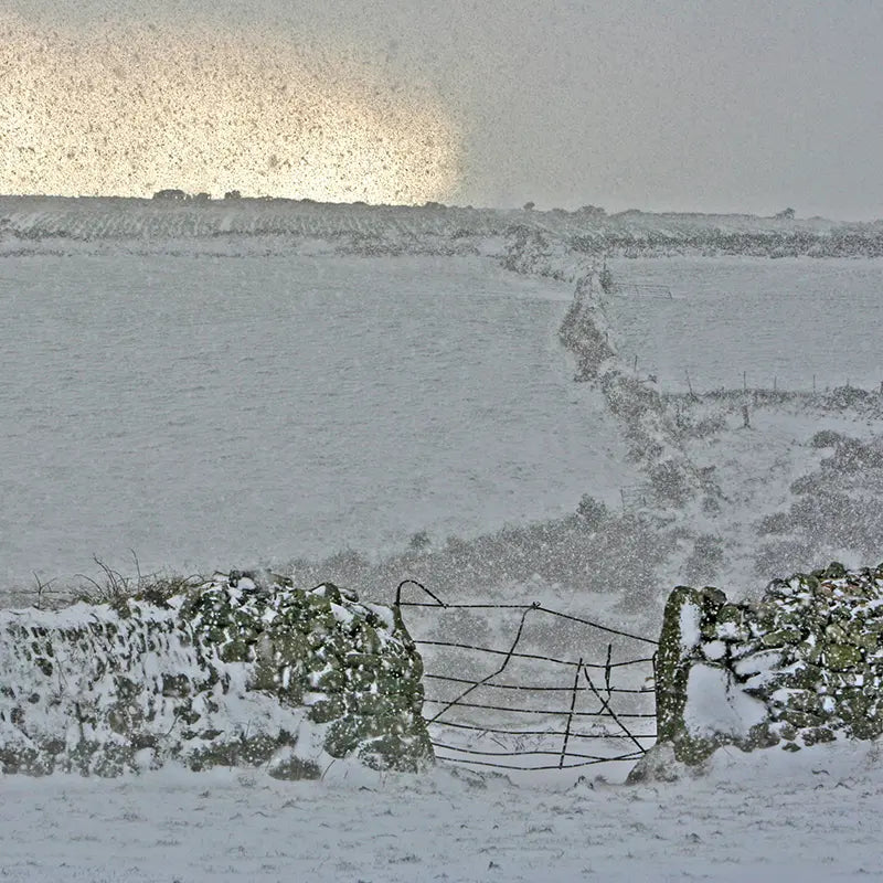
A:
[[[610,502],[634,480],[491,258],[7,257],[0,581],[283,566]]]

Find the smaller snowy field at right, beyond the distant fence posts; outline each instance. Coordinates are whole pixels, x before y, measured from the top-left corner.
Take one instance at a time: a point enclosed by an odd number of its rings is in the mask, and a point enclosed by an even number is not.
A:
[[[880,389],[883,260],[667,257],[609,262],[619,353],[660,389]],[[656,286],[656,288],[653,288]],[[666,297],[661,289],[670,291]],[[744,377],[743,377],[744,374]]]

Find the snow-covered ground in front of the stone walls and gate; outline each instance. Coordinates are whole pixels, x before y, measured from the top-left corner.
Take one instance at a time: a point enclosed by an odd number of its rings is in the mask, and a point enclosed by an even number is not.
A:
[[[0,879],[220,881],[881,880],[881,746],[719,752],[640,786],[329,770],[164,770],[0,783]]]

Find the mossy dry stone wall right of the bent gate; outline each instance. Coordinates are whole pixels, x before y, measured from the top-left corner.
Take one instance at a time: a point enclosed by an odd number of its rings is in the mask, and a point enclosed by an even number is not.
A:
[[[728,673],[691,678],[717,669]],[[702,695],[696,683],[721,695]],[[754,720],[757,706],[743,695],[763,703],[765,721]],[[693,702],[704,705],[704,717]],[[725,712],[716,730],[710,708]],[[776,579],[754,605],[678,586],[663,615],[657,715],[660,743],[688,764],[724,744],[796,749],[883,734],[883,565],[847,571],[834,562]]]

